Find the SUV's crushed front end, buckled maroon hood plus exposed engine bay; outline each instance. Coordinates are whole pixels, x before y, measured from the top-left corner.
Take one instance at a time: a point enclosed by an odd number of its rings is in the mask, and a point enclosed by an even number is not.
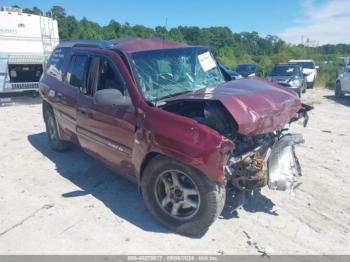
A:
[[[204,124],[219,132],[223,142],[233,143],[224,160],[228,186],[254,190],[268,185],[292,191],[301,176],[294,149],[304,140],[286,126],[300,119],[306,126],[312,107],[283,87],[243,79],[169,98],[161,107]]]

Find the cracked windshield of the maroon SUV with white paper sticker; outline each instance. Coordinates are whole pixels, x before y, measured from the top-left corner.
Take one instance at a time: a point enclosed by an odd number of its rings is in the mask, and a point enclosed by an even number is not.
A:
[[[134,75],[148,101],[223,83],[212,54],[204,47],[162,49],[131,55]]]

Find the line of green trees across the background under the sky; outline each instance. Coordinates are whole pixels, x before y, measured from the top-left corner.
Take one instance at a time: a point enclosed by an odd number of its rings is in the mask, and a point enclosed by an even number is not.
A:
[[[38,7],[25,8],[23,12],[44,15]],[[314,59],[320,66],[318,84],[324,86],[332,86],[339,56],[350,54],[350,44],[318,47],[291,45],[275,35],[260,36],[257,32],[235,33],[225,26],[149,28],[143,25],[121,24],[114,19],[101,26],[86,17],[78,20],[75,16],[67,15],[61,6],[53,6],[45,15],[58,21],[61,40],[141,37],[206,45],[211,48],[217,59],[228,67],[235,67],[238,63],[256,63],[262,76],[266,76],[275,63],[286,62],[289,59]]]

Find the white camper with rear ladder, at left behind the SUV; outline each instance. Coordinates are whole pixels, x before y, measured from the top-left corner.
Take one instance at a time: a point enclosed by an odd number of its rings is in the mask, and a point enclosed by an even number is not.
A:
[[[18,8],[2,8],[0,93],[37,90],[45,62],[58,43],[56,20]]]

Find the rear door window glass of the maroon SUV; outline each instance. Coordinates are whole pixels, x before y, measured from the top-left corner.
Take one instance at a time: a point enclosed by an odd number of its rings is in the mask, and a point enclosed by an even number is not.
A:
[[[86,55],[74,55],[67,72],[67,82],[78,88],[86,87],[86,75],[89,58]]]

